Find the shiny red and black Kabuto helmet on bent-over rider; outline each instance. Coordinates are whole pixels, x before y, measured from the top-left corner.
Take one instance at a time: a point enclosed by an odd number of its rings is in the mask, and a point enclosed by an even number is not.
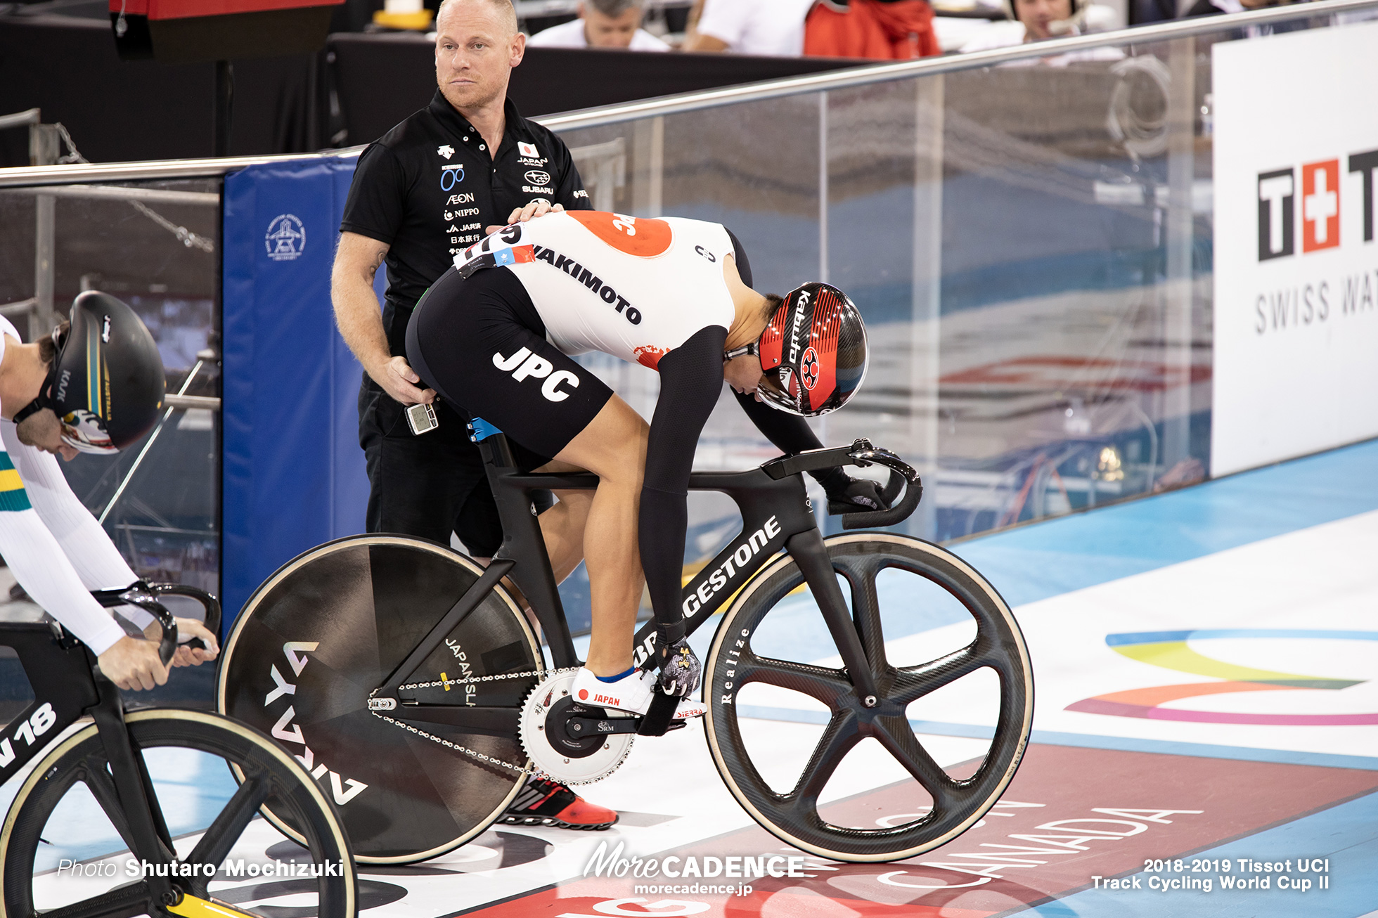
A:
[[[836,287],[809,283],[790,291],[759,340],[761,385],[773,408],[814,418],[836,411],[865,379],[865,325]]]

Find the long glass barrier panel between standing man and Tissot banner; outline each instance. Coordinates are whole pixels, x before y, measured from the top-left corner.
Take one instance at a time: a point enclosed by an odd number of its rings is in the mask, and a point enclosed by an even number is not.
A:
[[[900,528],[960,539],[1210,474],[1211,47],[1371,15],[1080,48],[562,136],[620,143],[626,179],[602,201],[730,227],[757,289],[827,280],[850,294],[870,335],[865,386],[812,426],[828,445],[870,437],[911,459],[925,500]],[[649,416],[653,374],[584,360]],[[774,452],[725,391],[696,467]],[[730,502],[693,495],[686,576],[739,525]]]

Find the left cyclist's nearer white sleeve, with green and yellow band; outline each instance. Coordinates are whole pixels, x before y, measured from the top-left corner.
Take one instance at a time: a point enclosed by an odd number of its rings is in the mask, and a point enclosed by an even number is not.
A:
[[[0,459],[0,466],[7,465]],[[10,487],[17,478],[14,469],[0,471],[0,554],[33,601],[99,656],[124,637],[124,629],[81,584],[62,546],[28,506],[23,487]]]

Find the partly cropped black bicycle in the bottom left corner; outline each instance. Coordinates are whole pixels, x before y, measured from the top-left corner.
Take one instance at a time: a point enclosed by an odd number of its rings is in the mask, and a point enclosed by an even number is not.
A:
[[[168,595],[200,602],[207,627],[219,629],[219,604],[190,586],[95,594],[107,608],[136,605],[157,618],[164,666],[176,649],[176,623],[163,602]],[[19,782],[0,830],[0,918],[262,917],[284,914],[273,906],[282,895],[291,897],[291,914],[354,918],[358,884],[344,828],[328,797],[273,740],[220,714],[125,710],[90,649],[55,623],[3,623],[0,646],[18,657],[34,696],[0,731],[0,783],[48,750]],[[216,759],[244,782],[225,799],[209,783],[198,787],[200,812],[189,820],[185,784],[214,782]],[[222,775],[222,786],[233,788],[227,771]],[[291,881],[291,889],[226,879],[244,875],[237,867],[245,848],[236,846],[260,806],[300,830],[306,850],[294,856],[300,867],[292,874],[303,879]],[[169,816],[174,827],[194,831],[174,834]],[[249,848],[251,860],[262,850]],[[237,861],[229,861],[232,853]]]

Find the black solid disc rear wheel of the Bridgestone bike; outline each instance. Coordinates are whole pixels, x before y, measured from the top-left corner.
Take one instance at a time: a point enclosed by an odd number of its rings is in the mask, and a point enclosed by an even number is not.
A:
[[[249,597],[225,641],[219,710],[269,733],[306,765],[339,806],[361,863],[404,864],[452,850],[497,820],[522,787],[525,775],[446,748],[368,710],[369,692],[482,572],[471,558],[420,539],[339,539],[282,565]],[[532,671],[544,671],[540,642],[499,586],[407,681]],[[402,695],[520,708],[536,681]],[[515,731],[499,737],[420,726],[495,759],[528,765]],[[298,838],[291,819],[271,808],[265,816]]]

